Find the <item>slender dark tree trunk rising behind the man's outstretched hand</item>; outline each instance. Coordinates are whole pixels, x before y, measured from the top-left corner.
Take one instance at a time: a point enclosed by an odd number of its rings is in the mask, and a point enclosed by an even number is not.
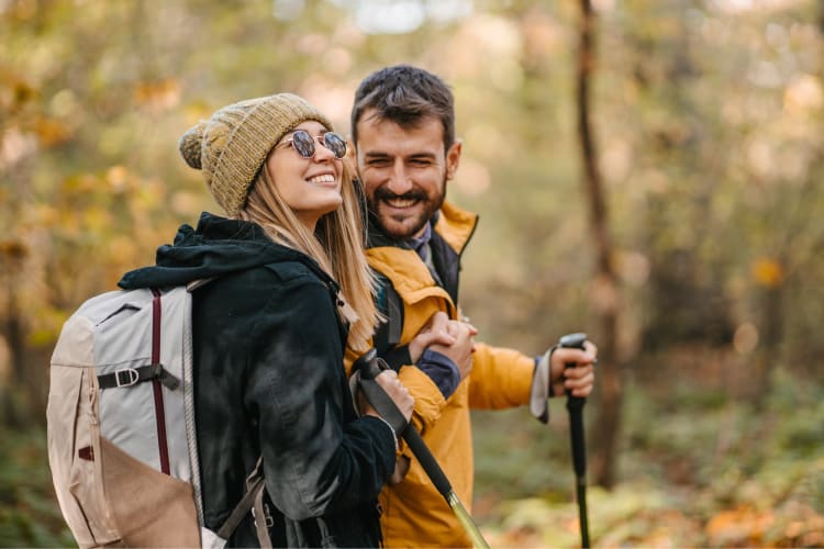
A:
[[[617,282],[612,267],[612,244],[609,215],[598,155],[591,126],[590,85],[595,65],[595,14],[590,0],[580,0],[580,44],[578,48],[577,110],[578,135],[583,163],[583,186],[589,206],[589,221],[597,254],[594,310],[599,348],[597,373],[598,417],[590,439],[591,477],[595,484],[612,488],[615,483],[615,444],[621,416],[621,371],[616,360]]]

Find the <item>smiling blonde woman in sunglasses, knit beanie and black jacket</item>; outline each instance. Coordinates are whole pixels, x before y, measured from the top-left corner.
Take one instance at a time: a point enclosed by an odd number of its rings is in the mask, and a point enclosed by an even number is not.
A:
[[[183,225],[157,266],[123,288],[208,281],[193,299],[198,450],[205,527],[216,531],[263,456],[274,545],[380,544],[376,498],[397,439],[368,404],[358,417],[345,345],[367,350],[376,321],[345,141],[303,99],[227,105],[180,139],[227,216]],[[412,399],[379,382],[409,419]],[[252,516],[231,546],[255,546]]]

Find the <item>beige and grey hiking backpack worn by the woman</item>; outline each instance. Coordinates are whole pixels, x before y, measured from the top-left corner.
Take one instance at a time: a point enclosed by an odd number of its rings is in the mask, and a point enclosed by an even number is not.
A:
[[[103,293],[63,326],[49,367],[48,462],[82,548],[223,547],[250,508],[264,511],[258,460],[226,523],[203,527],[191,330],[202,282]]]

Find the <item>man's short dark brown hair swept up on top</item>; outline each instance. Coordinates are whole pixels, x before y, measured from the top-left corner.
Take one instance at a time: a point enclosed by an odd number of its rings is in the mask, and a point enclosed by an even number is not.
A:
[[[366,77],[355,92],[352,108],[352,138],[357,146],[357,123],[364,112],[375,109],[379,120],[389,120],[403,128],[415,127],[434,117],[444,127],[444,150],[455,143],[455,100],[441,78],[410,65],[396,65]]]

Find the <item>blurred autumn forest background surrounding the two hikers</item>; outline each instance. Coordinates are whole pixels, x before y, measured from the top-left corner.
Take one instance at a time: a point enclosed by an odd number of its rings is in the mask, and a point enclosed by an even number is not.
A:
[[[591,11],[589,11],[589,10]],[[63,322],[218,211],[177,152],[277,91],[348,133],[369,71],[457,100],[485,340],[601,349],[599,547],[824,547],[824,3],[0,0],[0,546],[71,546],[45,453]],[[493,547],[579,544],[567,413],[476,414]]]

